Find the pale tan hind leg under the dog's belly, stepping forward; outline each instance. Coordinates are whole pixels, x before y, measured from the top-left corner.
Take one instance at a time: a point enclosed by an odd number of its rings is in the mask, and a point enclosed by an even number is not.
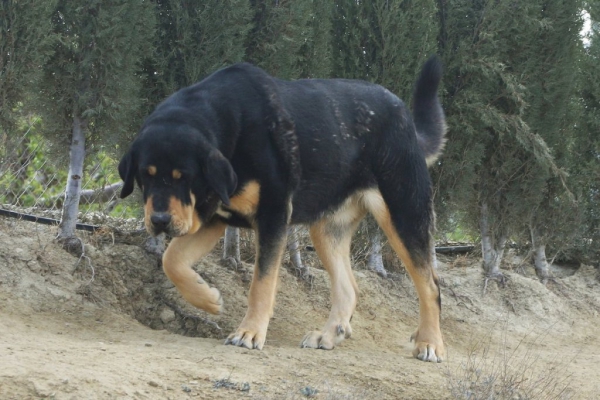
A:
[[[331,311],[323,329],[308,332],[300,347],[330,350],[352,335],[350,319],[356,308],[358,286],[352,273],[350,243],[365,214],[358,199],[352,196],[333,215],[310,227],[315,250],[331,279]]]

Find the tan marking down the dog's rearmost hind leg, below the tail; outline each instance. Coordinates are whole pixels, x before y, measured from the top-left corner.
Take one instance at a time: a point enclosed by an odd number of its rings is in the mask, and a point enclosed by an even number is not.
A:
[[[438,306],[439,289],[435,283],[437,280],[435,271],[431,264],[419,266],[414,264],[413,258],[392,224],[389,209],[379,191],[365,192],[363,202],[385,232],[390,245],[404,263],[417,289],[419,328],[413,334],[415,340],[413,355],[424,361],[441,362],[445,357],[445,349],[440,329],[441,310]]]

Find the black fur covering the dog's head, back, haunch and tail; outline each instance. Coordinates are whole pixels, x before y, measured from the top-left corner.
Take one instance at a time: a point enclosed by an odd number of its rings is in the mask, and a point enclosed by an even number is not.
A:
[[[379,188],[409,252],[430,257],[425,158],[435,158],[443,145],[440,78],[432,57],[415,86],[413,121],[397,96],[372,83],[283,81],[246,63],[224,68],[174,93],[147,118],[119,165],[121,197],[135,179],[160,212],[168,196],[190,204],[191,192],[204,223],[220,218],[257,228],[260,257],[268,258],[288,220],[310,224],[354,192]],[[149,165],[178,169],[183,178],[151,177]],[[250,181],[260,183],[255,215],[215,213]]]

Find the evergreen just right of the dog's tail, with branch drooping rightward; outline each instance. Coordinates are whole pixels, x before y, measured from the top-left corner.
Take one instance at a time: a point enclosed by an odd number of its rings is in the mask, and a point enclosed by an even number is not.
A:
[[[526,88],[516,60],[542,21],[539,4],[509,0],[442,2],[440,46],[446,64],[449,140],[435,177],[446,227],[481,235],[483,267],[502,278],[500,261],[513,221],[513,184],[524,154],[561,174],[543,138],[526,124]],[[475,210],[478,210],[475,211]]]

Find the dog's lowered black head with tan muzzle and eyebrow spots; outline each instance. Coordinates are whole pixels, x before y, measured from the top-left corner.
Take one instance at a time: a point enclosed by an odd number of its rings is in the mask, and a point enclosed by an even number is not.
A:
[[[216,194],[223,203],[237,186],[229,161],[188,125],[150,124],[142,128],[119,163],[121,198],[144,196],[144,222],[151,235],[183,236],[202,225],[198,209]]]

